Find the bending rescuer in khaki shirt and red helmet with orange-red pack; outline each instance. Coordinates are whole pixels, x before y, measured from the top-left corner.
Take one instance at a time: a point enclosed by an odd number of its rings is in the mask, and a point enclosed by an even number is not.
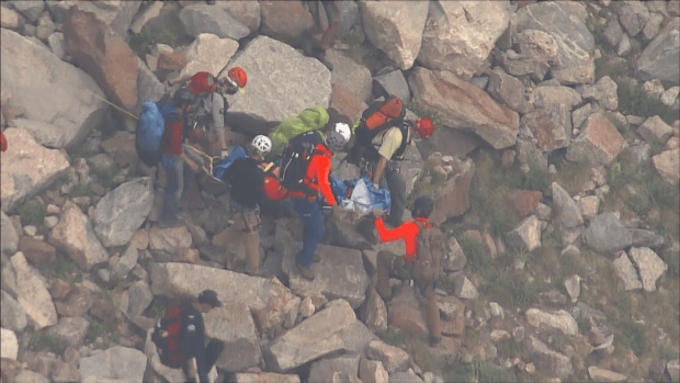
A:
[[[401,224],[406,209],[406,182],[395,161],[404,159],[406,148],[411,143],[413,131],[421,138],[427,139],[434,132],[434,127],[428,117],[420,117],[412,123],[399,121],[384,131],[378,147],[373,145],[373,138],[379,132],[360,134],[360,129],[356,131],[353,151],[361,153],[360,157],[364,159],[370,169],[369,177],[373,181],[373,187],[378,189],[383,184],[389,190],[392,203],[385,222],[394,227]],[[370,235],[370,224],[371,221],[363,221],[360,224],[360,232],[367,236],[366,239],[375,244],[375,237]]]

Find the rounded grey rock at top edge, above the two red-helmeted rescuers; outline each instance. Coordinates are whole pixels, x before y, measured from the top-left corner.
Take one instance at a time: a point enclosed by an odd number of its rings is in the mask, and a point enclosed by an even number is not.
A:
[[[248,26],[236,21],[217,5],[191,4],[180,11],[180,20],[190,35],[211,33],[220,38],[241,40],[250,34]]]

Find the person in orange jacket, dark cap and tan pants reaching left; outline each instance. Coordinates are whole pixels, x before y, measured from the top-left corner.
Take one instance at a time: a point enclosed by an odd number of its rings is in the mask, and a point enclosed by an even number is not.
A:
[[[432,346],[442,339],[434,282],[441,273],[443,256],[443,234],[428,221],[433,207],[432,199],[421,195],[413,202],[411,210],[413,221],[388,229],[382,217],[375,219],[375,227],[382,241],[401,239],[406,247],[404,256],[388,250],[378,251],[376,290],[383,300],[388,301],[392,297],[390,277],[412,279],[426,298],[426,322]]]

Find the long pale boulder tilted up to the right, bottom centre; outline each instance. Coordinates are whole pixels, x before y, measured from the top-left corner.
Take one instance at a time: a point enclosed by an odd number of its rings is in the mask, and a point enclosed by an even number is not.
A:
[[[355,320],[347,301],[329,302],[324,309],[264,347],[268,368],[287,371],[341,350],[343,341],[339,333]]]

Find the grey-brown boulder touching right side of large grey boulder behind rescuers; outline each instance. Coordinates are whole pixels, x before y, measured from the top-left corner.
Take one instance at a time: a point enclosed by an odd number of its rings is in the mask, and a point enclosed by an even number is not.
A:
[[[333,66],[333,70],[330,72],[331,85],[344,87],[362,102],[369,102],[371,100],[373,79],[369,68],[356,64],[353,59],[347,57],[341,50],[332,48],[326,50],[326,60]],[[401,78],[404,78],[404,76],[401,76]],[[406,86],[406,80],[404,80],[404,85]],[[408,102],[410,94],[408,95],[409,97],[401,100],[404,102]]]

